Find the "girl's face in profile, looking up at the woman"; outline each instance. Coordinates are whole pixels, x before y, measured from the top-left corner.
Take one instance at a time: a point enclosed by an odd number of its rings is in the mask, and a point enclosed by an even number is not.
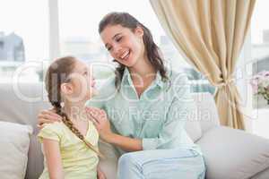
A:
[[[75,62],[74,70],[67,79],[69,81],[65,83],[65,98],[71,102],[85,101],[97,94],[91,70],[82,61]]]

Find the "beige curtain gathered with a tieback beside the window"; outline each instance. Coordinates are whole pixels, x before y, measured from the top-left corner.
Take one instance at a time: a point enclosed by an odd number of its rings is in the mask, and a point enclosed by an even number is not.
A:
[[[221,124],[245,129],[233,72],[256,0],[151,0],[161,25],[191,64],[218,88]]]

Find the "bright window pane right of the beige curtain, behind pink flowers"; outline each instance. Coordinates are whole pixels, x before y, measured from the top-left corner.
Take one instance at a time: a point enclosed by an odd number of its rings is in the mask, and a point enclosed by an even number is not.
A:
[[[252,76],[269,72],[269,23],[268,6],[266,0],[257,0],[251,23],[251,55],[252,55]],[[264,81],[260,79],[260,81]],[[268,80],[269,82],[269,80]],[[264,82],[265,84],[265,82]],[[266,84],[265,84],[266,85]],[[269,90],[269,83],[267,84]],[[256,90],[254,88],[254,90]],[[256,91],[253,91],[254,93]],[[269,91],[268,91],[269,93]],[[258,135],[269,138],[267,130],[269,104],[262,95],[253,95],[253,118],[254,132]]]

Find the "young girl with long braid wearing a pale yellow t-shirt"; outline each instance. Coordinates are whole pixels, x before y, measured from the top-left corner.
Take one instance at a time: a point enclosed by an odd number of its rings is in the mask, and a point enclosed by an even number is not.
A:
[[[97,173],[105,178],[98,166],[99,133],[83,107],[96,93],[87,65],[72,56],[56,59],[48,68],[46,90],[62,122],[45,124],[39,132],[45,156],[39,178],[94,179]]]

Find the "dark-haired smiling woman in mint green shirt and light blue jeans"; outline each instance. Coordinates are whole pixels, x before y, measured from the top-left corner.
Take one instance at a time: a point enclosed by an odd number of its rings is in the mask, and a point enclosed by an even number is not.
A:
[[[204,178],[202,152],[185,131],[195,110],[187,77],[165,67],[150,30],[130,14],[108,13],[99,31],[119,66],[86,105],[100,138],[128,151],[119,158],[118,178]],[[53,121],[54,114],[43,114],[39,124]]]

